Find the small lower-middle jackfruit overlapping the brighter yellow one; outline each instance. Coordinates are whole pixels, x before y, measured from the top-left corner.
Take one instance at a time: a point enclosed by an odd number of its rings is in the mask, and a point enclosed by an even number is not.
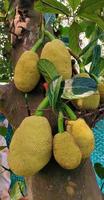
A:
[[[65,169],[75,169],[81,163],[81,151],[68,132],[54,136],[53,153],[55,160]]]

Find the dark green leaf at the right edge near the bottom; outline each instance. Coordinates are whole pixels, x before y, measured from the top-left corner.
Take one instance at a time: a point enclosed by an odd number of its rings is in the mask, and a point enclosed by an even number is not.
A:
[[[99,178],[104,179],[104,166],[101,163],[95,163],[94,169]]]

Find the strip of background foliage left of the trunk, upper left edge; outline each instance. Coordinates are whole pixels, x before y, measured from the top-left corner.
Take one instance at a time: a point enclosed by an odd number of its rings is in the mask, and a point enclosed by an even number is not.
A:
[[[11,1],[10,1],[11,2]],[[12,76],[11,43],[9,36],[9,20],[13,8],[8,0],[0,1],[0,81],[7,82]]]

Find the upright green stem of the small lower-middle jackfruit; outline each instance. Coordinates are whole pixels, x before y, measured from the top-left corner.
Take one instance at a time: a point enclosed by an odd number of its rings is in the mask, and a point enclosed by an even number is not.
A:
[[[63,133],[64,132],[64,118],[63,118],[63,113],[59,111],[58,115],[58,133]]]

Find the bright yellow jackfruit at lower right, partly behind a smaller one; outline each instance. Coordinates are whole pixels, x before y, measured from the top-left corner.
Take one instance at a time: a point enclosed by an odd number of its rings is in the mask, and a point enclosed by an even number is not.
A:
[[[82,158],[88,158],[94,150],[94,135],[84,119],[68,121],[69,133],[72,134],[82,153]],[[67,129],[68,131],[68,129]]]

